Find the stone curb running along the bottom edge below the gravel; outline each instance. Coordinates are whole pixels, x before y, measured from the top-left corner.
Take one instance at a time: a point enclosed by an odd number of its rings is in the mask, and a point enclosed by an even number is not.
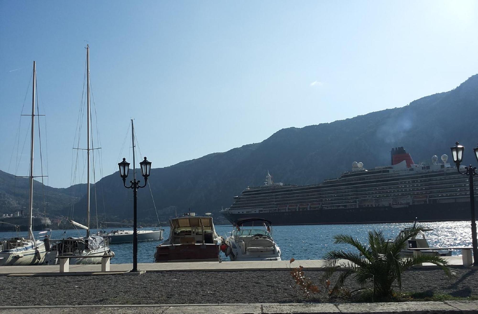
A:
[[[154,308],[154,310],[152,309]],[[384,314],[478,314],[478,301],[401,302],[401,303],[300,303],[300,304],[142,304],[142,305],[53,305],[0,306],[0,313],[27,313],[47,310],[48,313],[75,313],[99,309],[114,313],[161,314],[314,314],[314,313],[384,313]],[[22,311],[28,310],[28,311]],[[59,312],[60,311],[60,312]],[[95,311],[98,313],[98,311]],[[9,312],[9,313],[10,313]],[[35,312],[36,313],[36,312]],[[87,313],[87,312],[82,312]]]

